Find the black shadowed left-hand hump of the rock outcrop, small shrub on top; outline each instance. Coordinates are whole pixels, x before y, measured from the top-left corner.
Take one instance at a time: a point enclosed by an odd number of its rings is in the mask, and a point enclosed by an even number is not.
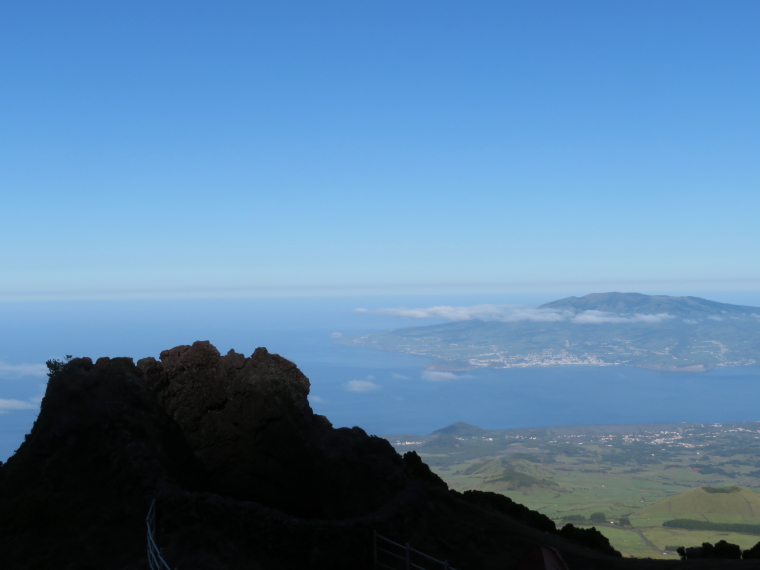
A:
[[[132,359],[75,359],[52,375],[31,434],[0,470],[0,566],[130,567],[144,559],[155,490],[196,489],[202,476]]]

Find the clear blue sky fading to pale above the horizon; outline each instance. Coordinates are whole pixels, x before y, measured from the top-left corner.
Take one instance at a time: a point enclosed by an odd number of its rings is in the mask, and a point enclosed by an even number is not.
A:
[[[760,290],[757,1],[0,4],[0,299]]]

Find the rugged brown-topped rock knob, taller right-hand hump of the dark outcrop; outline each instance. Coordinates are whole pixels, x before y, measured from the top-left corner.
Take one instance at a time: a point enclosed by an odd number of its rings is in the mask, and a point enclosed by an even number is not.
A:
[[[360,428],[332,429],[309,407],[309,380],[265,348],[220,356],[196,342],[138,367],[182,428],[209,490],[300,517],[348,518],[404,487],[404,462],[391,445]]]

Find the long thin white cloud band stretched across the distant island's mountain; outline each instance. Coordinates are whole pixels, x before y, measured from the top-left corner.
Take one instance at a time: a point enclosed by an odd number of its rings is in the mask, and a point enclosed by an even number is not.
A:
[[[437,305],[435,307],[421,309],[407,309],[396,307],[388,309],[354,309],[357,313],[369,313],[376,315],[391,315],[404,319],[443,319],[447,321],[496,321],[502,323],[514,323],[518,321],[534,322],[558,322],[567,321],[578,324],[601,324],[601,323],[661,323],[674,319],[668,313],[656,315],[618,315],[604,311],[583,311],[574,314],[570,311],[556,311],[554,309],[535,309],[525,305],[474,305],[472,307],[451,307]]]

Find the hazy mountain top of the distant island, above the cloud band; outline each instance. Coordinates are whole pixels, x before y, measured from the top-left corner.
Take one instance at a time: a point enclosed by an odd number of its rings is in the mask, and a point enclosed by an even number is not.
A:
[[[591,293],[583,297],[565,297],[544,303],[539,309],[556,311],[602,311],[616,314],[661,314],[676,317],[710,315],[760,315],[760,307],[730,305],[709,301],[700,297],[671,297],[669,295],[644,295],[642,293]]]

